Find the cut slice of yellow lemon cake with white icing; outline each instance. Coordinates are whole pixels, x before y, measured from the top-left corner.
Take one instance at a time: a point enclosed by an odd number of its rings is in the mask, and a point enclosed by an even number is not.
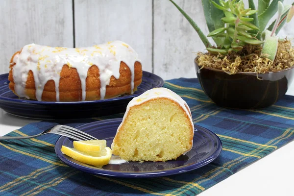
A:
[[[133,98],[111,145],[126,161],[176,159],[193,146],[194,124],[187,103],[166,88]]]

